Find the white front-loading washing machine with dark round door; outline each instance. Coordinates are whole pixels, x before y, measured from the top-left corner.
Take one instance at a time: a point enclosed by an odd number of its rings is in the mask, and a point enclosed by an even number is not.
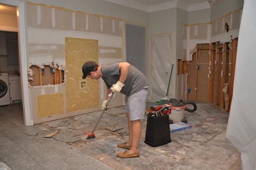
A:
[[[0,73],[0,106],[10,104],[8,73]]]

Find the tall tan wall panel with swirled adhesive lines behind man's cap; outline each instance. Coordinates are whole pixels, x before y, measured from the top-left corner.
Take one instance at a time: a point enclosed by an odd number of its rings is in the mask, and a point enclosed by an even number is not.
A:
[[[65,37],[67,112],[98,107],[99,80],[87,78],[87,88],[80,89],[82,66],[87,61],[99,63],[98,40]]]

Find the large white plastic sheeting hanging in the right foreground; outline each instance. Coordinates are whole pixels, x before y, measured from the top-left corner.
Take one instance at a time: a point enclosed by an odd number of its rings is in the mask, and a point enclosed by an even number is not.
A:
[[[256,0],[245,0],[238,37],[227,138],[241,153],[243,170],[256,170]]]

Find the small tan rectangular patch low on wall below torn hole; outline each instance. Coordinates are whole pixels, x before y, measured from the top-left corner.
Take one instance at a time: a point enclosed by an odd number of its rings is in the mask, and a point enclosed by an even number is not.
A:
[[[38,118],[64,113],[63,93],[37,95]]]

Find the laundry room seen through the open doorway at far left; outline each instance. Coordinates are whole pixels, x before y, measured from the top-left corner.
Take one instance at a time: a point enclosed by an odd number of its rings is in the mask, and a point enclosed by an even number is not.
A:
[[[0,13],[0,106],[21,102],[18,56],[18,24],[15,7]]]

